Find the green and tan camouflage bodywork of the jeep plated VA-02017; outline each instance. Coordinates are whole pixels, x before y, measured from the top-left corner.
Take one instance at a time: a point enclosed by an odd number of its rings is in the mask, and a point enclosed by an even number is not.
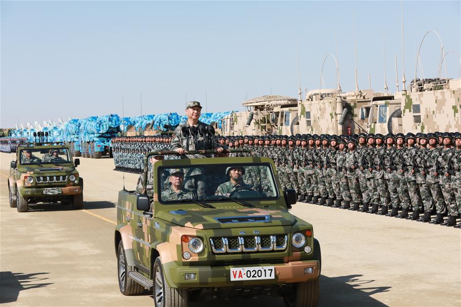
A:
[[[245,200],[254,208],[244,207],[231,200],[207,201],[215,208],[203,208],[194,202],[163,204],[159,201],[159,185],[156,182],[161,167],[187,167],[190,165],[215,165],[224,163],[268,163],[272,169],[279,197],[268,200]],[[146,170],[147,172],[147,170]],[[197,288],[220,286],[251,286],[302,282],[317,279],[320,274],[320,259],[314,259],[314,236],[312,225],[289,213],[284,192],[280,187],[274,162],[266,157],[198,158],[158,161],[153,166],[154,191],[151,212],[136,208],[134,191],[118,193],[117,226],[115,228],[115,251],[123,242],[127,265],[149,279],[155,258],[159,256],[165,279],[171,288]],[[221,223],[216,218],[269,216],[266,221],[244,221]],[[306,235],[310,231],[310,236]],[[306,243],[294,248],[292,235],[303,233]],[[184,252],[190,252],[182,236],[198,237],[204,243],[201,253],[191,253],[188,260]],[[258,235],[287,235],[287,247],[270,252],[237,252],[216,254],[212,251],[211,238],[251,237]],[[311,252],[305,253],[309,246]],[[275,268],[274,279],[231,281],[230,269],[241,267]],[[305,268],[312,268],[305,274]],[[196,278],[186,280],[186,273],[195,273]]]

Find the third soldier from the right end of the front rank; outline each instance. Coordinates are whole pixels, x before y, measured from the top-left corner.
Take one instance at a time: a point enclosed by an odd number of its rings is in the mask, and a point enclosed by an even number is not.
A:
[[[440,224],[443,222],[443,214],[445,213],[445,202],[444,196],[442,194],[442,190],[440,189],[438,173],[437,173],[437,165],[438,165],[438,157],[440,156],[440,151],[437,148],[438,145],[438,137],[433,133],[428,133],[428,141],[429,141],[429,150],[426,154],[426,167],[427,167],[427,175],[426,181],[431,188],[432,198],[435,202],[435,209],[436,209],[436,217],[435,219],[431,220],[429,223],[431,224]]]

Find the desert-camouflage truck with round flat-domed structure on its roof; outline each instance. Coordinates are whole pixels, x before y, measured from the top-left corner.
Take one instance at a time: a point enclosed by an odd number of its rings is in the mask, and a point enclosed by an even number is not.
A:
[[[268,95],[246,100],[242,105],[247,111],[223,118],[222,135],[299,133],[296,98]]]

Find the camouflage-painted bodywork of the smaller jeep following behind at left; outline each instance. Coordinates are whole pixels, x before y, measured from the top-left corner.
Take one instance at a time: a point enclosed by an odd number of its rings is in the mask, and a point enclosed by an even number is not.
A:
[[[18,146],[16,152],[16,168],[10,167],[10,175],[8,177],[8,188],[13,194],[18,192],[22,197],[29,199],[29,203],[47,202],[50,200],[62,200],[66,197],[83,192],[83,180],[79,177],[78,171],[74,166],[72,156],[69,154],[69,162],[53,164],[51,162],[42,162],[41,164],[22,165],[21,150],[24,149],[40,149],[50,150],[53,148],[67,149],[70,153],[70,148],[67,145],[21,145]],[[69,179],[70,175],[75,176],[75,180]],[[27,182],[25,178],[33,177],[33,182]],[[36,177],[46,177],[48,182],[38,183]],[[48,180],[49,178],[49,180]],[[56,181],[61,182],[49,182]],[[66,179],[66,180],[64,180]],[[45,195],[44,189],[61,188],[62,193],[55,195]]]

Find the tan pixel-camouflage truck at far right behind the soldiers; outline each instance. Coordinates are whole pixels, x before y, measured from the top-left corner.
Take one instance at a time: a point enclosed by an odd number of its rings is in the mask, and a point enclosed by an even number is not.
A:
[[[416,79],[410,89],[361,110],[369,133],[461,131],[461,79]]]

